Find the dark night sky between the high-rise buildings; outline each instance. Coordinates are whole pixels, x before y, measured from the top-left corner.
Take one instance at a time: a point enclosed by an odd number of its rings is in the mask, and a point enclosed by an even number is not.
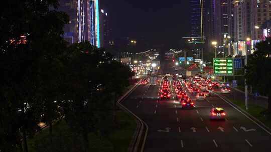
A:
[[[148,47],[178,48],[189,35],[189,0],[100,0],[114,38],[130,37]]]

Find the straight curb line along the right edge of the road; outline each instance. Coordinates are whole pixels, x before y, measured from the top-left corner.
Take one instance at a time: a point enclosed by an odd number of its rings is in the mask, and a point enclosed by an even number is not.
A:
[[[253,121],[255,124],[257,124],[260,128],[262,128],[264,131],[266,131],[269,135],[271,135],[271,128],[266,126],[263,122],[261,122],[259,119],[255,118],[251,114],[249,114],[247,111],[239,107],[238,105],[232,103],[227,97],[221,96],[220,94],[215,93],[218,97],[223,99],[225,102],[233,106],[237,111],[241,112],[244,116],[246,116],[248,119]]]

